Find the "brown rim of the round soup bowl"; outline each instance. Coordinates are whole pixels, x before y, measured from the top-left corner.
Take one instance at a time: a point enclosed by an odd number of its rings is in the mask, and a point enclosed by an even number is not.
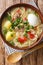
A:
[[[5,40],[5,38],[4,38],[3,34],[2,34],[2,20],[3,20],[3,18],[4,18],[4,15],[6,15],[6,12],[7,12],[7,11],[9,11],[9,10],[11,10],[11,9],[13,9],[13,8],[16,8],[16,7],[28,7],[28,8],[31,8],[31,9],[35,10],[35,11],[38,13],[38,15],[40,16],[40,19],[41,19],[41,22],[42,22],[42,23],[43,23],[43,15],[41,14],[40,10],[38,10],[38,9],[35,8],[34,6],[32,6],[32,5],[30,5],[30,4],[26,4],[26,3],[18,3],[18,4],[15,4],[15,5],[12,5],[12,6],[8,7],[8,8],[3,12],[3,14],[1,15],[1,18],[0,18],[0,35],[1,35],[2,40],[3,40],[8,46],[10,46],[10,47],[13,48],[13,49],[27,50],[27,49],[30,49],[30,48],[36,46],[36,45],[41,41],[41,39],[42,39],[42,37],[43,37],[43,32],[42,32],[40,38],[39,38],[33,45],[27,46],[27,47],[22,47],[22,48],[19,48],[19,47],[17,47],[17,46],[13,46],[13,45],[9,44],[9,42]]]

